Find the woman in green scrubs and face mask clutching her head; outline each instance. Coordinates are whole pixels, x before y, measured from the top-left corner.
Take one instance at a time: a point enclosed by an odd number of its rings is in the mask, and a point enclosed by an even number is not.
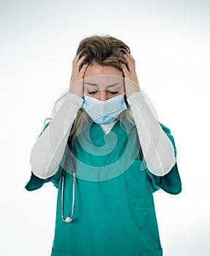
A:
[[[152,192],[181,192],[176,147],[144,99],[128,45],[83,39],[51,119],[26,185],[58,187],[51,255],[163,255]]]

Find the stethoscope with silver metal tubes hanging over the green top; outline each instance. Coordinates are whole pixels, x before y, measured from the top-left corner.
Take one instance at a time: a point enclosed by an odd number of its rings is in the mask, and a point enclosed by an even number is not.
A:
[[[46,118],[44,120],[44,127],[45,127],[46,121],[49,120],[49,119],[52,120],[52,118]],[[43,128],[43,131],[44,131],[44,128]],[[68,156],[68,154],[67,154],[67,156]],[[69,160],[67,156],[66,156],[66,159],[65,159],[64,166],[65,166],[66,162]],[[71,155],[70,155],[70,157],[71,157]],[[74,161],[73,157],[71,157],[71,159],[72,159],[72,163],[73,163],[73,167],[72,167],[72,170],[71,170],[71,175],[73,176],[71,217],[66,217],[66,218],[64,217],[64,205],[63,205],[66,170],[62,171],[62,177],[61,177],[61,179],[62,179],[62,181],[61,181],[61,219],[63,220],[63,222],[66,222],[66,223],[70,223],[74,219],[76,167],[75,167],[75,161]]]

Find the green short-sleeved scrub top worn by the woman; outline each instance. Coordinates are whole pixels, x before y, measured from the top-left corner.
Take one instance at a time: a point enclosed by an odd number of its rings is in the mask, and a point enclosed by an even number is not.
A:
[[[176,156],[170,129],[160,126],[173,143]],[[77,175],[74,220],[66,223],[61,219],[63,169],[64,217],[71,216],[73,177],[72,161],[65,161],[67,150],[55,176],[44,180],[31,173],[26,185],[34,190],[52,181],[58,187],[51,256],[162,256],[152,192],[160,188],[174,195],[181,192],[177,164],[166,176],[150,173],[139,154],[136,127],[125,127],[120,121],[108,135],[93,123],[77,137],[76,146],[70,145],[71,140],[68,143]]]

